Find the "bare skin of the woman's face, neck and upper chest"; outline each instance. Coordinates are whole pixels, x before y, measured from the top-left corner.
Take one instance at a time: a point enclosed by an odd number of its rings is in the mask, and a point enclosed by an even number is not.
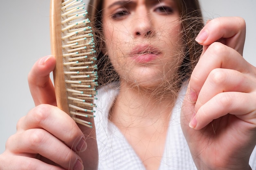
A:
[[[161,88],[171,80],[180,65],[183,44],[180,12],[170,0],[117,2],[120,1],[103,3],[105,46],[121,77],[110,121],[119,127],[144,166],[154,170],[164,152],[174,100],[172,93],[166,92],[161,100],[166,106],[163,108],[151,94],[152,89]],[[152,56],[155,49],[157,54]],[[141,50],[146,52],[141,54]],[[150,57],[154,59],[148,60]]]

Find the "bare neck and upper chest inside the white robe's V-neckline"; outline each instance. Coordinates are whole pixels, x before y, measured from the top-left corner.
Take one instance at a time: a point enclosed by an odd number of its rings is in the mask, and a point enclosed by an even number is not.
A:
[[[121,81],[119,95],[110,111],[110,121],[123,133],[148,170],[159,169],[177,96],[175,90],[160,94],[155,89],[159,88]]]

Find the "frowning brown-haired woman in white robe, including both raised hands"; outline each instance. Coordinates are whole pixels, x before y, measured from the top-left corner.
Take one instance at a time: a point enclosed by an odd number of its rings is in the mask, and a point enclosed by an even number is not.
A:
[[[197,0],[91,4],[107,79],[95,119],[100,169],[250,169],[250,157],[256,168],[256,68],[242,57],[243,19],[202,28]],[[1,169],[97,169],[94,135],[54,106],[54,65],[48,56],[32,68],[36,107],[8,139]]]

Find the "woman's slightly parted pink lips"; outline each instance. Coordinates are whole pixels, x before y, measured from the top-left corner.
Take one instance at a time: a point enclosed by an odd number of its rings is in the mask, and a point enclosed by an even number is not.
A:
[[[160,50],[154,46],[143,44],[132,49],[130,56],[137,63],[148,63],[154,61],[161,54]]]

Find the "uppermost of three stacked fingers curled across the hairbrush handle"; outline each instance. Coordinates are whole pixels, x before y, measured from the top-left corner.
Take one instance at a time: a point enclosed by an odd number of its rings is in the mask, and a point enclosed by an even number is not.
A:
[[[74,120],[61,109],[51,105],[39,105],[31,109],[27,116],[18,122],[17,129],[18,132],[45,129],[76,152],[84,151],[87,147],[85,136]]]

